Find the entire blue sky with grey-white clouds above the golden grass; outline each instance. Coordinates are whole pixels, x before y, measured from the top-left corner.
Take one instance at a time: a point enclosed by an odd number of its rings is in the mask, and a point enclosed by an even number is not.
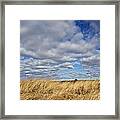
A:
[[[100,78],[99,20],[21,20],[20,79]]]

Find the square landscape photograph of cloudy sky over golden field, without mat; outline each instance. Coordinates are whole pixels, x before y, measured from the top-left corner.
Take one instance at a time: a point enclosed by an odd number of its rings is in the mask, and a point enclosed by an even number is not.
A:
[[[20,20],[20,100],[100,100],[100,20]]]

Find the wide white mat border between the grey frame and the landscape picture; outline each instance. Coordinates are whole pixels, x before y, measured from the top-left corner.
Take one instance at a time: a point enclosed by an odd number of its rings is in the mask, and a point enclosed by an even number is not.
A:
[[[100,100],[20,100],[20,20],[100,20]],[[6,5],[5,114],[114,115],[115,6]]]

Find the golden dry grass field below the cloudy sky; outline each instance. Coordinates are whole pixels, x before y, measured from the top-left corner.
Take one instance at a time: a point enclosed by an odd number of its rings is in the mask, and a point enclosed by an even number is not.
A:
[[[21,80],[21,100],[99,100],[99,80]]]

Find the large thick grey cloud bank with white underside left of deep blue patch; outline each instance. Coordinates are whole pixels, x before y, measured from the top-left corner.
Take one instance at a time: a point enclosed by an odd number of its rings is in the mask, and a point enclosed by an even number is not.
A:
[[[83,40],[78,29],[74,21],[21,21],[21,54],[70,61],[76,60],[78,53],[92,53],[98,41]]]

